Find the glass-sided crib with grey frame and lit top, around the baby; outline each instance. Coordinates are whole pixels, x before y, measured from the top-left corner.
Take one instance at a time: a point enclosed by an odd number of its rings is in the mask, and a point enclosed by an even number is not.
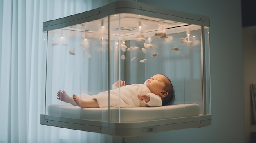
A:
[[[209,18],[121,1],[43,23],[47,49],[45,110],[40,124],[113,136],[142,136],[211,125]],[[112,85],[168,77],[172,105],[115,107]],[[80,108],[57,99],[106,93],[107,107]],[[63,93],[61,93],[63,94]],[[137,97],[137,95],[135,95]]]

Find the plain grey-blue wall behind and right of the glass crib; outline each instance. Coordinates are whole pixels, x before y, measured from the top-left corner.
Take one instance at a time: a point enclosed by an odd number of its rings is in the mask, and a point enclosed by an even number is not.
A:
[[[93,8],[117,0],[99,0]],[[212,125],[141,136],[139,143],[243,143],[240,0],[137,0],[210,18]],[[102,4],[102,5],[101,5]]]

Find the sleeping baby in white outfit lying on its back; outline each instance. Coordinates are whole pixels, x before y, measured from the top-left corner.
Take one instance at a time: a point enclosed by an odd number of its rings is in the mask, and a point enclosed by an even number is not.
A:
[[[170,79],[157,74],[144,84],[125,85],[125,81],[117,81],[113,84],[113,90],[92,96],[82,94],[79,98],[73,94],[70,97],[64,90],[58,91],[57,99],[81,108],[103,108],[108,107],[109,92],[110,107],[119,107],[119,102],[120,107],[157,107],[172,104],[175,98]]]

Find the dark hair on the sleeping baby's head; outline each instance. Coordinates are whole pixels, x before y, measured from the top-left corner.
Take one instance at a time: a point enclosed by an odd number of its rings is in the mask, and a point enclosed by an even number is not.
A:
[[[166,77],[166,75],[164,75]],[[163,101],[162,101],[162,105],[171,105],[174,103],[174,99],[175,99],[175,91],[173,89],[173,84],[171,83],[171,80],[166,77],[170,83],[166,83],[165,84],[165,88],[164,90],[166,92],[168,92],[168,95],[166,97],[164,97]]]

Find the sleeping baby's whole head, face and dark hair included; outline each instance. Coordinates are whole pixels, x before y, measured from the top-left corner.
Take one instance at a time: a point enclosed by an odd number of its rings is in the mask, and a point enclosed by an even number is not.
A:
[[[144,83],[148,89],[162,99],[162,105],[172,104],[175,98],[173,85],[168,77],[157,74]]]

